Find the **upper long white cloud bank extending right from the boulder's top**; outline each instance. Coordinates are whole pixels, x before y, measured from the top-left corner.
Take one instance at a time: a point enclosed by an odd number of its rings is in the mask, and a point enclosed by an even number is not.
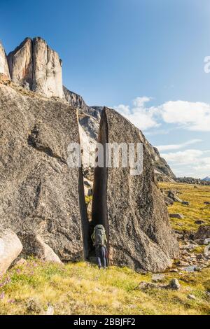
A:
[[[120,104],[115,109],[141,130],[174,124],[186,130],[210,132],[210,104],[169,101],[157,107],[146,107],[151,97],[137,97],[132,106]]]

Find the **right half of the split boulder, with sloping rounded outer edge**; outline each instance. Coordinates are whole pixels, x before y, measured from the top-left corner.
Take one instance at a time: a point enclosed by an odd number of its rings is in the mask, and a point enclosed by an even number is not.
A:
[[[169,225],[167,208],[141,132],[116,111],[104,108],[99,142],[144,144],[143,174],[130,168],[99,168],[94,172],[93,224],[103,224],[112,264],[151,272],[165,270],[179,246]]]

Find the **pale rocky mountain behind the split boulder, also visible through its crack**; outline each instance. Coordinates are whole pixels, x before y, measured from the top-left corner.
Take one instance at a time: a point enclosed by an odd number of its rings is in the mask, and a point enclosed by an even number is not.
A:
[[[0,52],[4,52],[1,45]],[[3,58],[4,63],[2,71],[6,71],[9,76],[6,56],[3,54],[1,58]],[[65,102],[78,109],[80,131],[87,136],[84,143],[82,143],[83,155],[86,157],[87,152],[94,153],[103,107],[87,106],[83,97],[71,92],[62,85],[62,62],[57,52],[52,50],[40,37],[25,38],[15,50],[8,54],[8,66],[10,78],[13,82],[46,97],[64,99]],[[173,181],[175,175],[167,162],[160,157],[157,148],[153,148],[145,137],[144,141],[148,153],[151,155],[158,180]]]

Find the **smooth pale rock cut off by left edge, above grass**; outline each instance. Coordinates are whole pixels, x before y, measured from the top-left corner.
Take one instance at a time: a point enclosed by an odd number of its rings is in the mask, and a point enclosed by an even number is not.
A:
[[[20,239],[12,230],[0,229],[0,276],[22,251]]]

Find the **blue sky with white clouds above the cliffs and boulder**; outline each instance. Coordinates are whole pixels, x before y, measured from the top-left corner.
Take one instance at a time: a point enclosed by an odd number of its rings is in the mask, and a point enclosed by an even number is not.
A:
[[[210,176],[209,0],[0,0],[6,52],[42,36],[64,85],[115,107],[177,176]]]

